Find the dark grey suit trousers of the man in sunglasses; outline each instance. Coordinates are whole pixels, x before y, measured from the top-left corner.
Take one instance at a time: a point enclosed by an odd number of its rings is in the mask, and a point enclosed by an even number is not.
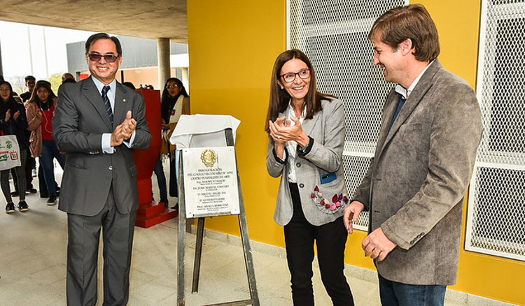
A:
[[[100,229],[104,241],[104,306],[124,306],[130,294],[130,265],[137,210],[120,214],[113,203],[93,216],[67,214],[67,305],[97,305]]]

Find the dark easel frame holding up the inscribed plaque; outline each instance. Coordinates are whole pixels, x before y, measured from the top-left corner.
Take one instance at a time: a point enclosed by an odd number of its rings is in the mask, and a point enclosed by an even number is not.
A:
[[[225,129],[226,145],[234,146],[232,129]],[[237,156],[235,157],[237,168]],[[177,306],[185,306],[184,298],[184,247],[186,246],[186,202],[184,196],[184,175],[183,175],[183,156],[179,158],[179,244],[177,245]],[[248,289],[250,290],[249,300],[237,300],[207,306],[259,306],[257,286],[255,285],[255,271],[253,270],[253,258],[251,256],[250,238],[248,235],[248,224],[246,222],[246,210],[244,210],[244,199],[242,197],[241,180],[239,179],[239,168],[237,168],[237,186],[239,189],[239,226],[241,228],[242,249],[244,251],[244,263],[248,275]],[[221,214],[224,215],[224,214]],[[211,217],[211,216],[209,216]],[[204,236],[204,217],[198,219],[197,224],[197,243],[195,245],[195,262],[193,264],[193,285],[192,293],[199,290],[200,260],[202,255],[202,239]]]

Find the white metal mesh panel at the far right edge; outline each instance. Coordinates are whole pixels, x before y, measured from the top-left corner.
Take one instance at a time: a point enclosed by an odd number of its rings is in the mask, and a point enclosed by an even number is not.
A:
[[[484,131],[465,249],[525,260],[525,1],[482,1],[477,96]]]

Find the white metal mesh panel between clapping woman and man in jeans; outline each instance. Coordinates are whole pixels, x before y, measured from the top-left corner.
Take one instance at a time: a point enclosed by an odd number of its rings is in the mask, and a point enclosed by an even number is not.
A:
[[[374,154],[384,99],[393,87],[372,64],[367,34],[379,15],[406,4],[404,0],[288,0],[288,48],[307,54],[318,90],[344,103],[343,166],[350,195]],[[366,230],[367,226],[365,213],[356,228]]]

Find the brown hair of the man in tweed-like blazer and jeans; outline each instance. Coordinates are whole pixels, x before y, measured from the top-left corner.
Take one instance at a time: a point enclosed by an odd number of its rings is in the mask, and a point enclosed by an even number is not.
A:
[[[434,21],[424,6],[411,4],[387,10],[372,25],[368,39],[381,42],[397,50],[398,45],[410,38],[414,56],[418,61],[432,61],[440,54],[440,40]]]

